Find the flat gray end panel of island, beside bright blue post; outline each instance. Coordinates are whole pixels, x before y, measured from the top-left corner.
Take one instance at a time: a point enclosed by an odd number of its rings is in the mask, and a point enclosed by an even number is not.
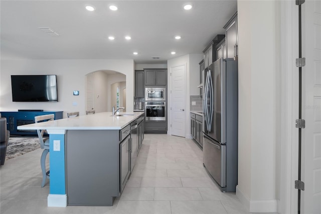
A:
[[[119,196],[119,130],[68,130],[68,205],[112,205]]]

